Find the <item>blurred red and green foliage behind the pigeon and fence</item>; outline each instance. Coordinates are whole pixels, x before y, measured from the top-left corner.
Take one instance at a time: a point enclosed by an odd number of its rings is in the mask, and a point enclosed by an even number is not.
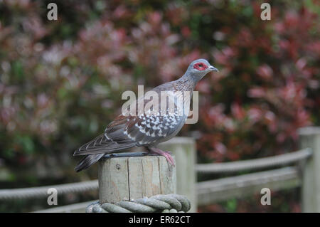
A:
[[[199,122],[181,131],[196,136],[198,162],[294,151],[297,128],[320,125],[319,14],[316,0],[0,1],[0,188],[96,179],[96,167],[73,171],[73,151],[119,114],[122,92],[175,80],[196,58],[220,70],[198,84]],[[300,211],[298,189],[272,196],[268,207],[244,198],[199,211]],[[48,205],[0,204],[37,208]]]

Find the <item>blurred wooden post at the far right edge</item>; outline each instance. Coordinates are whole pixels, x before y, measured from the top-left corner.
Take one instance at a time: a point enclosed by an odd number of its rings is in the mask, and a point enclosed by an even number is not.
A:
[[[302,211],[320,212],[320,127],[304,127],[299,135],[300,147],[312,151],[302,174]]]

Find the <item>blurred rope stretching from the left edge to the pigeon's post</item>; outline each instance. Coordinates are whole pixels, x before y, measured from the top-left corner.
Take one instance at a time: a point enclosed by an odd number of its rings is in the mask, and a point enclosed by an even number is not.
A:
[[[41,186],[26,189],[1,189],[0,200],[9,199],[32,199],[48,197],[48,189],[54,188],[60,194],[78,193],[82,191],[90,191],[98,189],[98,181],[84,181],[71,184],[60,184],[51,186]]]

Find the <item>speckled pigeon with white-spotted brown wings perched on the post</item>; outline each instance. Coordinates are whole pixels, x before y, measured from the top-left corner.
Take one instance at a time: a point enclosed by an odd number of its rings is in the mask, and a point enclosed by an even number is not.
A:
[[[145,147],[147,154],[164,156],[174,166],[171,153],[156,148],[156,145],[171,139],[181,130],[188,118],[196,84],[211,71],[218,69],[208,60],[193,60],[181,78],[152,89],[152,99],[146,94],[139,97],[107,125],[103,134],[75,150],[73,156],[85,156],[75,171],[87,169],[106,154],[117,154],[132,147]],[[159,97],[155,98],[156,95]],[[153,105],[147,105],[151,100]]]

